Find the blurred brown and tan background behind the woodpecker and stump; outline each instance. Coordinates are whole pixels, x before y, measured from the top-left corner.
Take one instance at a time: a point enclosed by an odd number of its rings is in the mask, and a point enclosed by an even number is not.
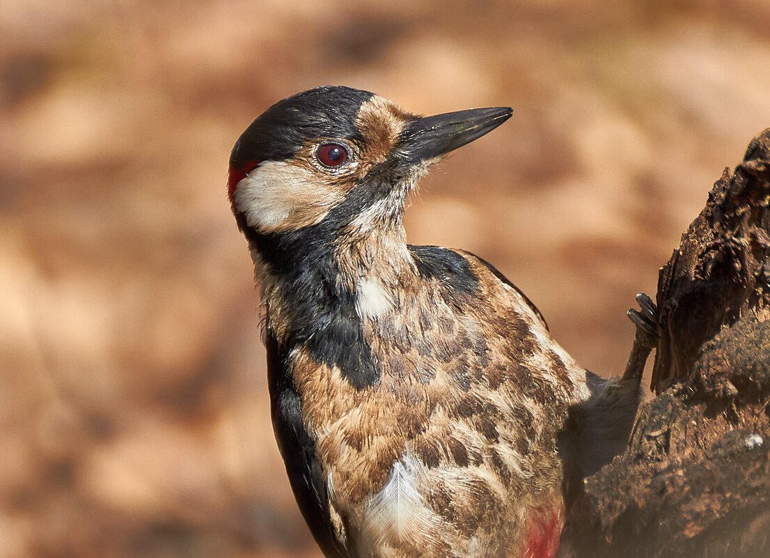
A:
[[[318,556],[269,425],[229,150],[320,84],[511,105],[408,213],[584,365],[770,126],[770,3],[4,0],[0,558]]]

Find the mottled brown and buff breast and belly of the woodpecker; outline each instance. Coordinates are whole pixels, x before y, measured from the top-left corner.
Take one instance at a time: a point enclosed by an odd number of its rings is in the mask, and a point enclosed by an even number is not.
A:
[[[555,443],[567,408],[588,398],[585,371],[517,293],[466,261],[473,291],[440,277],[397,292],[360,281],[370,385],[302,348],[290,358],[336,528],[357,556],[516,556],[527,510],[561,509]]]

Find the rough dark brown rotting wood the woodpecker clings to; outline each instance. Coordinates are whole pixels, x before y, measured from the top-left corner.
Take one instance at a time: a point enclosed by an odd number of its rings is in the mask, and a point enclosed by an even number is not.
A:
[[[770,556],[768,204],[770,129],[661,268],[657,396],[585,480],[561,556]]]

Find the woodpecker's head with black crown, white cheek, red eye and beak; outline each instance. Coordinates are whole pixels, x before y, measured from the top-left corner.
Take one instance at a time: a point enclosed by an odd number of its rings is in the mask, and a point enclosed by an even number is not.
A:
[[[419,117],[341,86],[298,93],[267,109],[233,147],[233,213],[252,242],[306,231],[317,244],[321,229],[333,237],[400,224],[404,199],[430,163],[510,116],[493,108]]]

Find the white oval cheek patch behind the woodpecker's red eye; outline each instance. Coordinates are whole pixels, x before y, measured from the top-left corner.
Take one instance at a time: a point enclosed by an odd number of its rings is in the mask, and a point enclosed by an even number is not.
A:
[[[235,193],[246,223],[263,232],[319,223],[339,197],[314,170],[286,161],[259,164],[238,183]]]

